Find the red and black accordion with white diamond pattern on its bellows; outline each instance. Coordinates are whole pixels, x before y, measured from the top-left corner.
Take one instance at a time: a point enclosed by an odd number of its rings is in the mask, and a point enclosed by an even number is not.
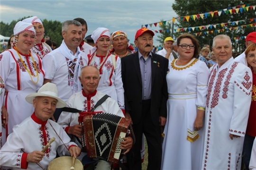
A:
[[[110,113],[85,115],[83,127],[88,157],[118,163],[120,143],[126,136],[130,123],[130,119]]]

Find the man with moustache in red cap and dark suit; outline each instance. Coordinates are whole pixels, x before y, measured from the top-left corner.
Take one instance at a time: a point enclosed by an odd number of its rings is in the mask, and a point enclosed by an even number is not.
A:
[[[168,59],[151,52],[154,35],[145,27],[139,29],[134,41],[138,51],[121,59],[126,117],[132,119],[136,137],[134,147],[127,153],[129,170],[141,170],[142,134],[148,144],[147,170],[161,168],[160,126],[165,126],[167,116]]]

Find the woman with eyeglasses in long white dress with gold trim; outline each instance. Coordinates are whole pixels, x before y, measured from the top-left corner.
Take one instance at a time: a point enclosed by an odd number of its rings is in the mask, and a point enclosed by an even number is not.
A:
[[[177,45],[180,58],[171,62],[166,75],[168,116],[162,170],[200,170],[209,69],[195,58],[199,54],[195,37],[181,34]]]

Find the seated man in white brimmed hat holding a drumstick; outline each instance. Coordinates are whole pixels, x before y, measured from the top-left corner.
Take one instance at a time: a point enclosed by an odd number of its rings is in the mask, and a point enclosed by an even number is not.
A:
[[[47,169],[50,161],[55,159],[56,151],[60,156],[77,157],[81,153],[81,149],[70,142],[63,128],[49,120],[56,108],[66,106],[57,93],[56,85],[47,83],[37,93],[27,95],[26,101],[33,104],[35,112],[13,127],[13,133],[0,149],[0,165],[12,167],[13,170]],[[41,150],[53,137],[55,141],[42,153]]]

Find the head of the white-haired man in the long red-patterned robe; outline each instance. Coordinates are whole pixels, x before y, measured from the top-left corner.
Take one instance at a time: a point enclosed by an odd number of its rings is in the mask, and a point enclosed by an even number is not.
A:
[[[226,61],[228,61],[232,56],[232,46],[229,40],[226,38],[218,38],[215,40],[215,46],[212,47],[219,67],[222,66]]]

